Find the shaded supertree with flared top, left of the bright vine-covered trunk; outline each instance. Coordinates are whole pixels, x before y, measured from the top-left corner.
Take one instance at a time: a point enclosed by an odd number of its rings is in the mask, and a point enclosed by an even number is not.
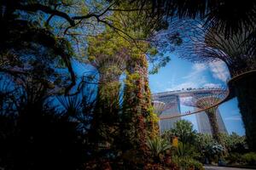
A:
[[[119,77],[125,71],[126,58],[123,49],[113,55],[97,54],[95,59],[90,61],[90,65],[94,66],[98,73],[96,109],[91,123],[91,135],[95,136],[96,141],[93,142],[96,142],[96,147],[101,144],[113,146],[114,139],[119,135]]]

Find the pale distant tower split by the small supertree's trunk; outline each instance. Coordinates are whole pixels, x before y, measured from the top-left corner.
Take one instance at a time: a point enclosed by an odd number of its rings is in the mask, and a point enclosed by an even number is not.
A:
[[[200,113],[195,114],[195,117],[196,117],[198,132],[212,134],[212,129],[211,129],[211,125],[210,125],[207,113],[205,111],[201,111]],[[216,111],[216,117],[217,117],[219,132],[228,133],[218,109]]]

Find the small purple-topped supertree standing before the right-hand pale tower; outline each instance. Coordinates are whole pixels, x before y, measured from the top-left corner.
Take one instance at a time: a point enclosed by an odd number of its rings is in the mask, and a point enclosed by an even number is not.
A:
[[[189,100],[185,100],[184,105],[197,107],[201,110],[206,109],[206,113],[212,128],[212,137],[219,144],[223,144],[222,139],[219,135],[218,122],[216,117],[216,111],[218,108],[218,102],[224,99],[227,93],[223,88],[217,88],[212,90],[208,94],[193,94],[192,98]],[[216,106],[214,106],[216,105]],[[212,107],[213,106],[213,107]],[[207,109],[209,108],[209,109]]]

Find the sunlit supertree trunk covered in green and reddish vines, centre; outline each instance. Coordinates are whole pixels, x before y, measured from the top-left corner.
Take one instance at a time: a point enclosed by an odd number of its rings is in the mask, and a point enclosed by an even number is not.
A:
[[[158,133],[148,88],[148,62],[145,55],[128,61],[122,113],[122,150],[146,161],[146,139]],[[155,117],[157,117],[155,115]]]

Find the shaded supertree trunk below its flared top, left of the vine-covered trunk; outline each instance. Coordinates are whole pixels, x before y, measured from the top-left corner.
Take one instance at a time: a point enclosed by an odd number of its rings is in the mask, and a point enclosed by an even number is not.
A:
[[[106,149],[114,148],[115,140],[119,135],[119,77],[121,71],[112,67],[114,65],[107,65],[99,69],[100,80],[96,108],[90,128],[91,144],[95,144],[96,150],[99,149],[99,145],[107,147]]]

